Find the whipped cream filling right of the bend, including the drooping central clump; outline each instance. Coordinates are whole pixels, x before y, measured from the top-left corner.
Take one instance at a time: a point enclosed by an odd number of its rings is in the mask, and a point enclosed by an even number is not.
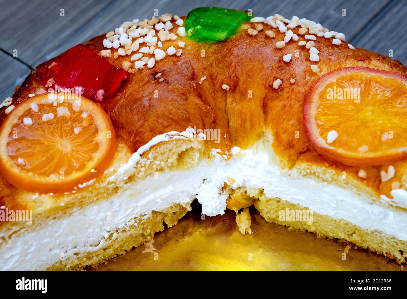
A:
[[[223,214],[225,196],[220,194],[217,197],[214,190],[221,190],[224,182],[228,182],[233,189],[241,186],[263,189],[269,198],[278,197],[308,207],[317,214],[348,220],[366,231],[382,231],[407,240],[405,211],[375,204],[369,197],[354,194],[351,190],[281,170],[269,163],[269,156],[263,151],[232,148],[232,153],[235,155],[228,163],[216,164],[217,169],[210,179],[199,188],[197,199],[202,204],[202,211],[209,216]],[[405,193],[392,195],[403,196]]]

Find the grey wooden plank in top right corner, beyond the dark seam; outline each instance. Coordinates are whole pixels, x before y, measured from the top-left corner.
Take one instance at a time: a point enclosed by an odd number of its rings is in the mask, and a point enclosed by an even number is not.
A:
[[[395,2],[368,32],[355,39],[354,46],[385,56],[389,56],[389,51],[393,50],[392,59],[407,65],[407,35],[403,33],[406,15],[406,2],[404,0]]]

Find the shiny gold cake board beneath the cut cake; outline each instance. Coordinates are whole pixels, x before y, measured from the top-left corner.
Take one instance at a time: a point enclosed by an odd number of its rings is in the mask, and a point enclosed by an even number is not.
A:
[[[366,250],[267,223],[251,210],[252,234],[242,235],[235,213],[206,216],[199,206],[178,224],[98,267],[98,271],[403,271],[404,266]],[[143,253],[144,251],[144,253]]]

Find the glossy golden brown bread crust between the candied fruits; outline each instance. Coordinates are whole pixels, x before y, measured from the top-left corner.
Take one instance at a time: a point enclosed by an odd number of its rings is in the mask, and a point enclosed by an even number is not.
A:
[[[185,17],[183,17],[185,19]],[[174,28],[170,32],[175,33]],[[254,24],[248,22],[245,26]],[[293,32],[298,33],[299,28]],[[276,34],[271,38],[265,31]],[[298,34],[299,41],[305,40]],[[104,35],[94,37],[84,45],[96,53],[103,50]],[[128,148],[134,152],[154,136],[168,131],[184,131],[188,127],[198,129],[220,129],[221,143],[208,141],[208,148],[229,150],[232,146],[248,148],[265,132],[271,131],[273,141],[270,146],[280,159],[282,167],[291,167],[295,162],[319,165],[346,172],[354,180],[371,188],[377,194],[389,195],[392,182],[407,181],[406,162],[398,162],[394,179],[381,183],[381,166],[368,167],[366,179],[358,177],[359,168],[344,166],[326,160],[318,155],[306,135],[302,109],[303,102],[311,84],[322,74],[346,66],[368,66],[389,70],[407,76],[406,68],[398,61],[362,49],[351,50],[346,42],[333,45],[332,39],[318,37],[314,41],[319,50],[320,61],[309,60],[309,49],[298,46],[291,40],[282,49],[276,48],[276,42],[284,39],[284,33],[270,25],[256,36],[241,30],[225,42],[203,44],[187,37],[166,41],[163,50],[169,46],[177,48],[177,42],[186,42],[181,56],[166,56],[157,61],[153,68],[144,68],[130,74],[129,79],[117,94],[102,102],[102,107],[112,118],[116,133]],[[112,48],[112,50],[114,50]],[[292,54],[286,63],[282,57]],[[107,57],[108,61],[122,68],[123,61],[129,56],[117,59]],[[44,62],[43,65],[53,61]],[[311,70],[317,64],[319,72]],[[162,73],[159,78],[155,75]],[[201,78],[206,76],[201,83]],[[295,83],[290,83],[290,79]],[[159,80],[163,79],[163,80]],[[271,85],[280,79],[278,89]],[[229,90],[222,89],[222,85]],[[35,81],[35,74],[29,75],[22,86],[13,95],[13,105],[28,98],[44,88]],[[158,92],[158,97],[154,93]],[[0,111],[0,124],[4,120],[4,109]],[[294,135],[298,133],[299,138]],[[0,203],[10,194],[18,192],[9,186],[0,176]]]

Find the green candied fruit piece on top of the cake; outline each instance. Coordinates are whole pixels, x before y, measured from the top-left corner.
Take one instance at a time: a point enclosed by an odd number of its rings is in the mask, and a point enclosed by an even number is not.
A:
[[[195,40],[206,43],[224,41],[234,35],[241,24],[252,16],[244,11],[220,7],[200,7],[186,17],[185,30]]]

